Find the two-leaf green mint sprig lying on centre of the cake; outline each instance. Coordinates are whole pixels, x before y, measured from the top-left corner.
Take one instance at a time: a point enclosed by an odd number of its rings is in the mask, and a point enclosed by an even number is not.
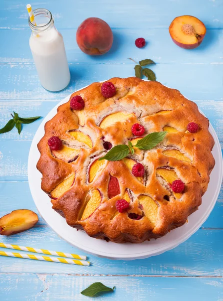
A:
[[[109,152],[104,157],[101,157],[98,159],[98,161],[101,160],[108,160],[108,161],[118,161],[121,160],[129,154],[129,152],[133,155],[134,154],[134,148],[137,147],[139,149],[151,149],[155,147],[159,142],[163,140],[163,138],[166,135],[166,131],[162,132],[153,132],[145,137],[141,138],[137,141],[135,145],[132,145],[131,141],[128,141],[128,145],[126,144],[119,144],[114,147],[112,147]]]

